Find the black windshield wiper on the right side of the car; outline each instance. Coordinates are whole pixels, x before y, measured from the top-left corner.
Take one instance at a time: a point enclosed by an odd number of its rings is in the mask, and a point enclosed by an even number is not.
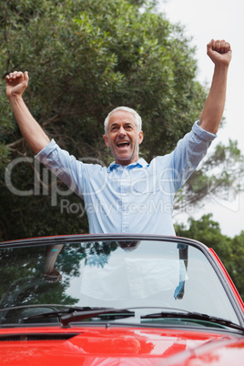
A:
[[[209,321],[211,323],[217,323],[220,325],[227,326],[229,328],[234,328],[236,330],[244,331],[244,328],[230,320],[226,320],[219,317],[214,317],[207,314],[201,314],[200,312],[188,311],[188,312],[157,312],[147,315],[141,315],[141,319],[158,319],[158,318],[180,318],[186,320],[203,320]]]

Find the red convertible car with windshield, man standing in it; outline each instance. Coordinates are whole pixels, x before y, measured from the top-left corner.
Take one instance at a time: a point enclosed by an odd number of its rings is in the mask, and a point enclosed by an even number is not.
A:
[[[1,365],[243,365],[244,304],[191,239],[0,243]]]

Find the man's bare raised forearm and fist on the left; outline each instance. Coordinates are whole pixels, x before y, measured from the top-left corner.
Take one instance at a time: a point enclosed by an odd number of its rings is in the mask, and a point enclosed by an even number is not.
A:
[[[23,100],[23,93],[28,85],[28,74],[15,71],[5,77],[6,95],[15,114],[17,124],[25,141],[35,154],[50,142],[49,137],[31,115]]]

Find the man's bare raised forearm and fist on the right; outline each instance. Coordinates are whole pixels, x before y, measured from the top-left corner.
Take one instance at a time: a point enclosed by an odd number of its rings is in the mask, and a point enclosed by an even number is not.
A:
[[[229,43],[224,40],[214,41],[212,39],[208,43],[207,53],[215,68],[212,85],[200,117],[199,126],[216,134],[225,107],[231,48]]]

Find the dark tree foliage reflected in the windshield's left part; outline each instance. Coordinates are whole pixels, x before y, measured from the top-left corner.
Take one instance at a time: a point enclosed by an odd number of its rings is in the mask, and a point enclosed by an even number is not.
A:
[[[45,261],[52,263],[50,249],[54,246],[0,250],[2,308],[27,304],[76,304],[78,299],[67,295],[66,290],[70,286],[70,280],[80,276],[81,262],[84,260],[87,266],[103,267],[111,251],[117,249],[117,243],[69,243],[60,247],[61,254],[58,254],[53,265],[62,273],[62,280],[56,282],[45,280],[44,277]]]

